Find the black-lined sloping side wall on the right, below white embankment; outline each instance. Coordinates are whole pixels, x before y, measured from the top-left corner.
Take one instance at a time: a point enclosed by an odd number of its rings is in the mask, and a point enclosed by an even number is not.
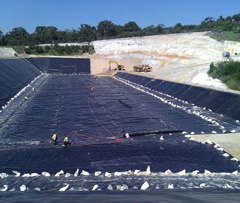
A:
[[[209,108],[215,113],[240,120],[240,94],[152,79],[129,73],[118,72],[115,76],[194,103],[197,106]]]

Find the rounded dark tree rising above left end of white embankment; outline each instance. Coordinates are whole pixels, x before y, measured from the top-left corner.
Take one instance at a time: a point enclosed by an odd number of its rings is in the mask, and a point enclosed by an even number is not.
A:
[[[97,26],[97,35],[99,38],[108,38],[117,35],[115,25],[108,20],[101,21]]]

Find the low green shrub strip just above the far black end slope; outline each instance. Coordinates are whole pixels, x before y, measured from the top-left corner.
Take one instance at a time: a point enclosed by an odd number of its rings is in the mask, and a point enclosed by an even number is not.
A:
[[[15,51],[18,52],[17,49],[15,49]],[[54,46],[29,46],[24,48],[24,52],[26,54],[34,55],[69,56],[69,55],[82,55],[84,53],[93,54],[94,47],[92,45],[59,46],[58,44],[55,44]]]

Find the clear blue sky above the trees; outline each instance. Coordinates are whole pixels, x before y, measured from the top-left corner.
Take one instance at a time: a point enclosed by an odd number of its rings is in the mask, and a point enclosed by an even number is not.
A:
[[[29,33],[36,26],[59,30],[97,26],[103,20],[124,25],[135,21],[141,28],[176,23],[200,24],[206,17],[240,13],[240,0],[0,0],[0,30],[15,27]]]

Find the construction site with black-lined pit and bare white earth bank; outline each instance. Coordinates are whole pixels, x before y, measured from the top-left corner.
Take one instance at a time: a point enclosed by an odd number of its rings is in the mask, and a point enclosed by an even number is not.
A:
[[[1,54],[1,191],[239,191],[240,93],[207,71],[240,60],[240,43],[91,43],[83,57]]]

